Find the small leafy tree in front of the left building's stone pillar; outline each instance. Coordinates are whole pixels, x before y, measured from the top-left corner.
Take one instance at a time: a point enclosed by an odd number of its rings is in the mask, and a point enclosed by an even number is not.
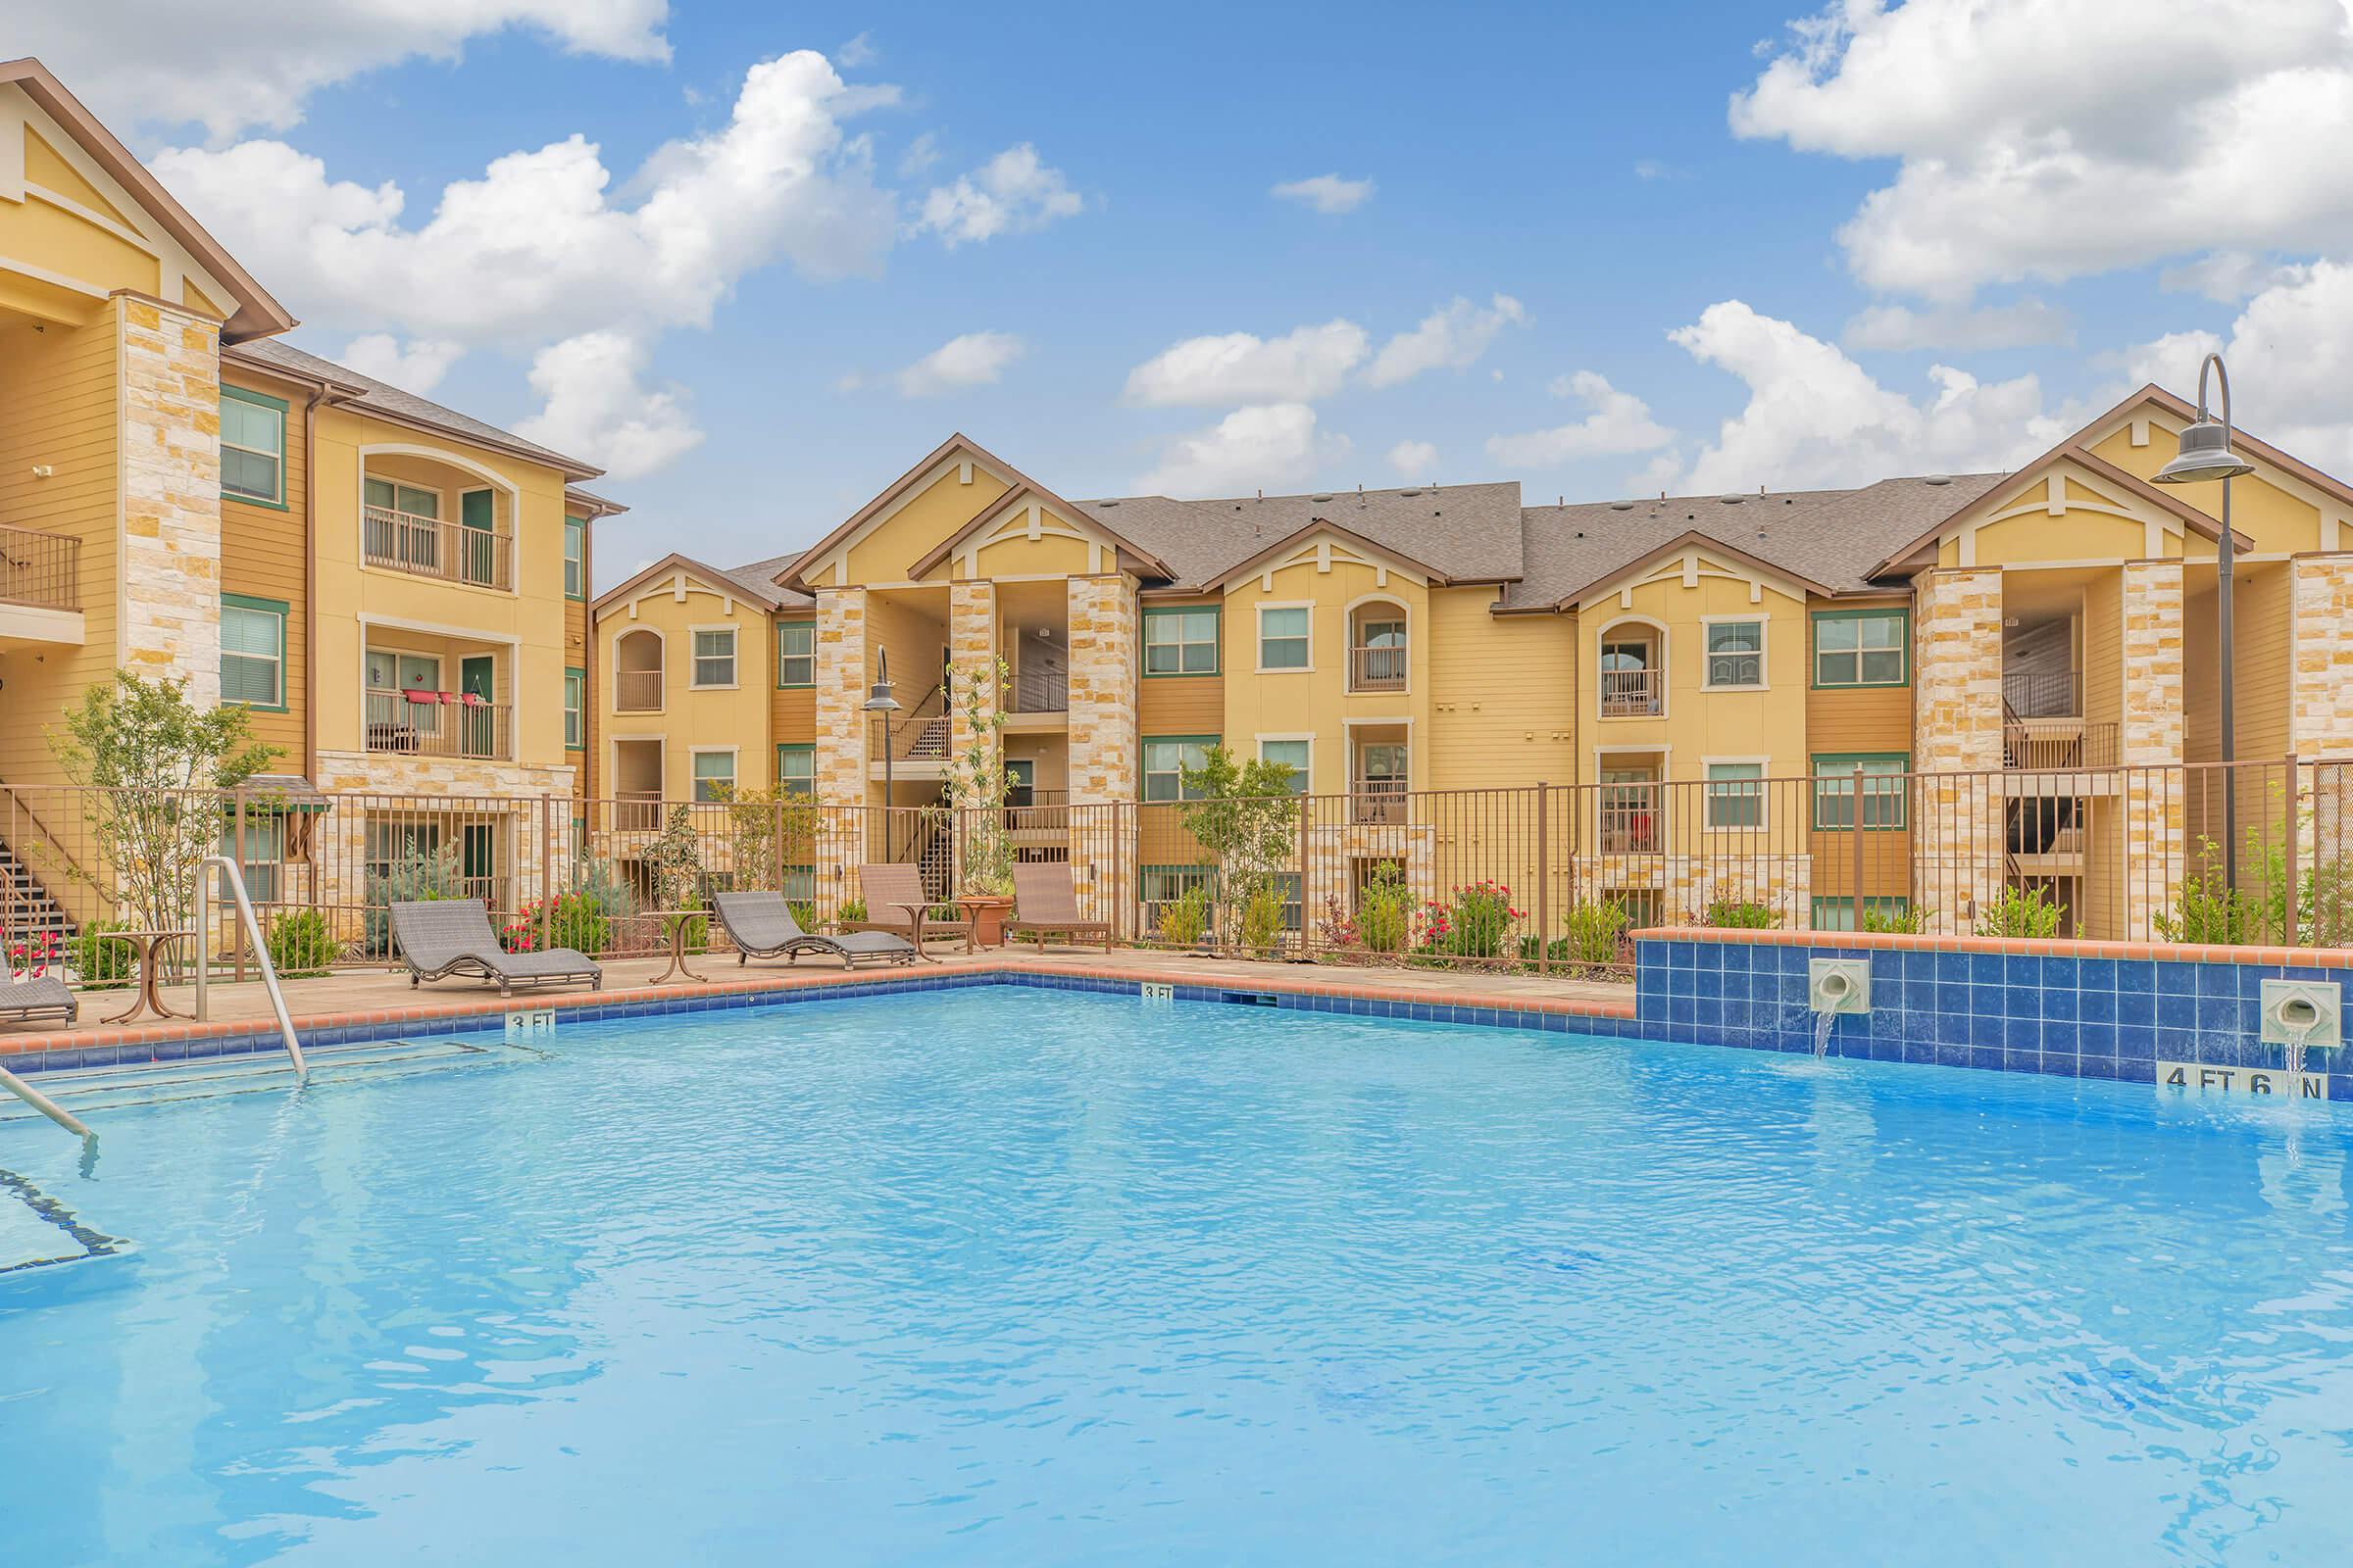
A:
[[[221,849],[221,797],[268,766],[278,748],[249,733],[242,708],[202,710],[186,679],[115,670],[49,731],[66,778],[82,785],[89,865],[64,865],[134,926],[179,931],[195,867]]]

